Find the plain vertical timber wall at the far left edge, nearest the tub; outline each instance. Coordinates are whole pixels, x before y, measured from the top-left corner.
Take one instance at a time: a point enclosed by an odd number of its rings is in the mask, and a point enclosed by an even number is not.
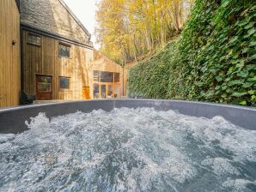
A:
[[[0,0],[0,107],[19,105],[20,13],[15,0]]]

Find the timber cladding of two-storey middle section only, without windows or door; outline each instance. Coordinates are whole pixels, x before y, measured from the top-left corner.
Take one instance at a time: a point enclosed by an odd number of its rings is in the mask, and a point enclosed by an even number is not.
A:
[[[82,99],[82,87],[89,85],[89,59],[92,50],[40,36],[41,45],[27,43],[27,30],[23,39],[23,87],[27,94],[36,95],[36,75],[52,75],[52,99]],[[59,57],[59,45],[69,45],[70,57]],[[70,78],[70,88],[59,87],[59,77]]]

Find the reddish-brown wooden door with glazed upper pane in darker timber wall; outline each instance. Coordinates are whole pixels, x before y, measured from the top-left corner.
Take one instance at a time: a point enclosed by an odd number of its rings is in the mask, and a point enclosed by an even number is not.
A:
[[[36,75],[36,99],[52,100],[51,75]]]

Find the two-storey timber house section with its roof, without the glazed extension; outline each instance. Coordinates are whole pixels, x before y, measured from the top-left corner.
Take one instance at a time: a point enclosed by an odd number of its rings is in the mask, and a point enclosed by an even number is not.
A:
[[[21,0],[22,89],[38,100],[88,96],[93,44],[62,0]],[[84,99],[89,99],[84,98]]]

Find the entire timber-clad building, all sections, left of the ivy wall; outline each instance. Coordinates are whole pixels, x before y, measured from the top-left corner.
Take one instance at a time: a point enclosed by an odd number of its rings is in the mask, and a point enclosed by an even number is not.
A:
[[[127,71],[94,50],[63,0],[0,0],[0,107],[37,100],[120,98]],[[19,11],[20,10],[20,11]]]

